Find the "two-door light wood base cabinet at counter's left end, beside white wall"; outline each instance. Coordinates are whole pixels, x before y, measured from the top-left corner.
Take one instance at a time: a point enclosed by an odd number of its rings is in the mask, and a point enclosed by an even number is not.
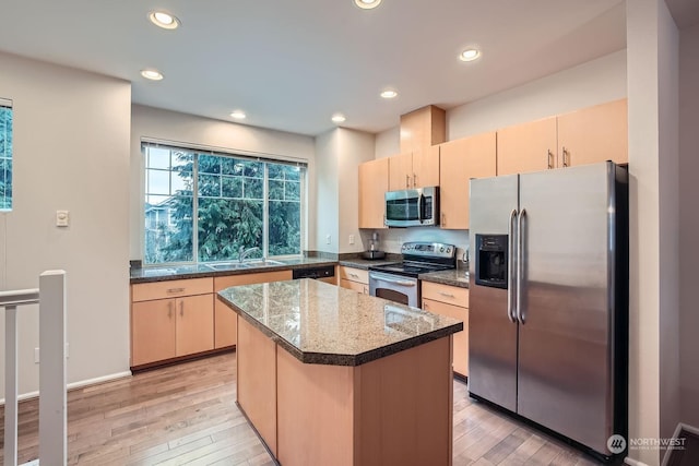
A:
[[[212,291],[212,278],[132,285],[131,366],[213,349]]]

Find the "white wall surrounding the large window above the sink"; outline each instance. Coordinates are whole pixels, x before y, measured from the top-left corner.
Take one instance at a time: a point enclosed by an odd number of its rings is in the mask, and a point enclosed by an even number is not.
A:
[[[300,134],[265,130],[245,124],[212,120],[152,107],[133,105],[131,126],[130,176],[130,256],[142,259],[143,235],[143,156],[141,140],[157,139],[173,143],[194,144],[224,152],[297,158],[308,163],[308,195],[312,205],[316,178],[313,139]],[[315,212],[309,211],[309,225],[315,225]],[[315,228],[307,228],[308,249],[315,248]]]

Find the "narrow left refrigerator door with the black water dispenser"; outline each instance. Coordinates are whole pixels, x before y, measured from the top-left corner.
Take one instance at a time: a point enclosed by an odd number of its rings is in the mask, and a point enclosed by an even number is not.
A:
[[[476,235],[507,235],[518,206],[518,176],[471,180],[469,271],[469,391],[517,410],[517,324],[508,318],[508,290],[475,284]],[[508,271],[508,275],[511,271]]]

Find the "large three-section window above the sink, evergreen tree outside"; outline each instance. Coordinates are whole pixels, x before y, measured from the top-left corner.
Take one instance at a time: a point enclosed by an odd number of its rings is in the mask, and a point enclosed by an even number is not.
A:
[[[150,143],[143,154],[144,263],[301,253],[305,165]]]

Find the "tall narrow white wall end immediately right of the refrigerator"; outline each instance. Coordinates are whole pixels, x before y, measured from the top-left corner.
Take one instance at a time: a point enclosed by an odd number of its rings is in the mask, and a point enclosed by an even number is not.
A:
[[[627,45],[629,437],[657,439],[678,420],[677,29],[664,1],[627,2]],[[629,451],[649,465],[660,455]]]

